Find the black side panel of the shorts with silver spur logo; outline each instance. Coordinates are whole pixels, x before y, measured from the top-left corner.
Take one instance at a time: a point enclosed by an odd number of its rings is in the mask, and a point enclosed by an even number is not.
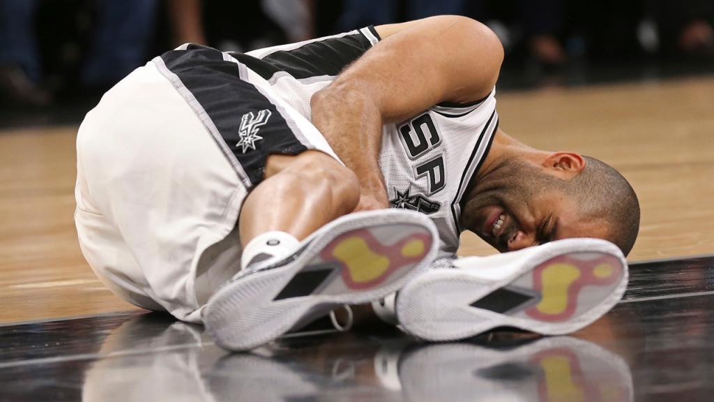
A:
[[[298,155],[307,150],[275,104],[250,82],[241,79],[236,62],[223,59],[223,53],[206,46],[161,55],[166,68],[198,102],[223,141],[257,185],[265,175],[268,155]],[[179,89],[179,92],[181,90]]]

